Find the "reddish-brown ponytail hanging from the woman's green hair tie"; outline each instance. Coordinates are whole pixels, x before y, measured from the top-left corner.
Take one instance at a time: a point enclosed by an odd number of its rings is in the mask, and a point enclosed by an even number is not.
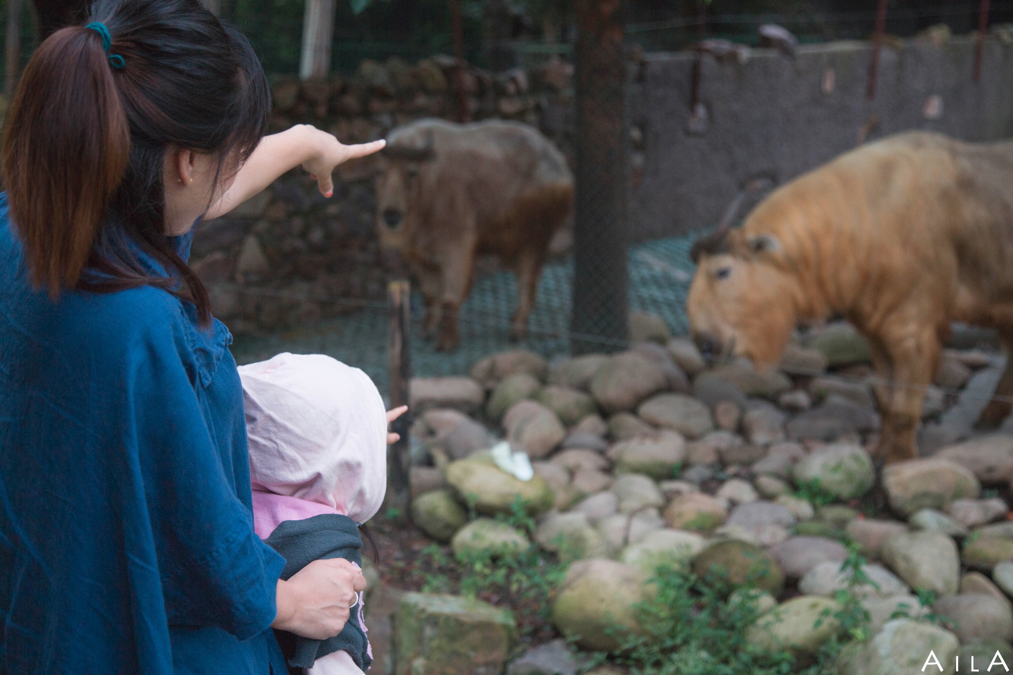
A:
[[[7,113],[3,176],[32,282],[77,285],[130,160],[130,126],[101,36],[62,28],[28,62]]]

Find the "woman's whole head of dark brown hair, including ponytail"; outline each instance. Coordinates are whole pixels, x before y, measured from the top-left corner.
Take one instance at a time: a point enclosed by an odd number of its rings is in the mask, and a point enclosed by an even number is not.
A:
[[[158,286],[207,325],[208,291],[165,234],[165,153],[208,153],[229,179],[266,133],[263,69],[197,0],[94,0],[86,21],[107,35],[47,37],[7,113],[3,179],[31,280],[54,297]]]

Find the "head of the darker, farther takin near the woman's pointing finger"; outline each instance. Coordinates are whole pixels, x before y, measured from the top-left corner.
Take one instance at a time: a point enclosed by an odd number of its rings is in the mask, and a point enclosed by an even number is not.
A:
[[[417,204],[420,202],[423,172],[436,159],[433,132],[392,135],[381,153],[380,171],[376,178],[377,233],[384,248],[403,250],[413,229]]]

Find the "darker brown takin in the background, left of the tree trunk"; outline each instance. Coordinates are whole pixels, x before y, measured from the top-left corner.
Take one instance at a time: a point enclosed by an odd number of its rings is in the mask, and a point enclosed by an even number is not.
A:
[[[536,130],[511,121],[422,119],[387,138],[377,178],[380,242],[399,250],[425,302],[437,349],[458,343],[458,312],[475,258],[514,269],[518,306],[511,337],[523,337],[549,242],[573,209],[573,177]]]

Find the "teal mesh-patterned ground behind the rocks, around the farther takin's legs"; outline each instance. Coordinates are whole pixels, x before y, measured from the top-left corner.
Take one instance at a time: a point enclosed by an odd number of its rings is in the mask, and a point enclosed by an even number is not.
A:
[[[632,312],[660,318],[673,334],[685,334],[686,292],[692,275],[689,248],[692,238],[657,240],[630,247],[627,264],[628,305]],[[510,272],[496,272],[475,282],[459,315],[461,344],[453,352],[439,352],[422,338],[421,297],[412,294],[411,365],[416,375],[466,373],[479,359],[514,348],[535,351],[547,358],[570,352],[574,337],[597,351],[614,351],[623,343],[597,335],[573,335],[570,311],[573,260],[547,264],[538,284],[538,299],[528,335],[510,339],[510,325],[517,304],[517,281]],[[274,292],[244,287],[240,292]],[[363,368],[386,393],[388,389],[389,307],[381,301],[342,301],[347,312],[316,324],[259,335],[238,335],[232,346],[240,363],[266,359],[282,351],[329,354]],[[658,327],[659,328],[659,327]]]

